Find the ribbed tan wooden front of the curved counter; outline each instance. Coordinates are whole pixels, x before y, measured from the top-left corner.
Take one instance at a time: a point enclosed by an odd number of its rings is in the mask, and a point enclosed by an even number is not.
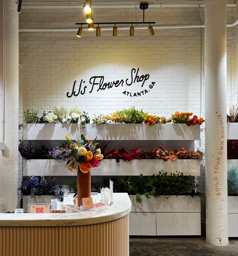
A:
[[[121,195],[125,198],[124,193]],[[87,225],[72,221],[72,226],[1,226],[0,256],[129,256],[129,212]]]

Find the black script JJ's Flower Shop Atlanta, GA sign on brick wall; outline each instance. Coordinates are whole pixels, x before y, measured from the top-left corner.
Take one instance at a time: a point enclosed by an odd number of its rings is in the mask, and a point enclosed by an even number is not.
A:
[[[139,68],[136,70],[135,68],[131,69],[131,77],[127,78],[125,81],[123,79],[120,80],[113,80],[111,82],[105,81],[104,76],[92,76],[89,79],[89,85],[86,85],[85,80],[81,79],[79,82],[79,85],[76,84],[76,80],[74,81],[74,85],[71,92],[67,92],[66,96],[68,98],[71,98],[72,96],[77,97],[79,95],[84,95],[87,91],[89,93],[92,93],[93,91],[101,91],[111,88],[118,88],[123,86],[132,86],[139,84],[141,86],[141,90],[137,92],[130,92],[130,91],[123,91],[122,94],[129,97],[139,97],[142,95],[145,95],[146,93],[150,92],[150,89],[152,89],[155,86],[155,82],[151,82],[150,85],[146,85],[146,81],[149,79],[150,75],[139,75]],[[146,89],[145,89],[145,87]],[[78,88],[78,89],[77,89]]]

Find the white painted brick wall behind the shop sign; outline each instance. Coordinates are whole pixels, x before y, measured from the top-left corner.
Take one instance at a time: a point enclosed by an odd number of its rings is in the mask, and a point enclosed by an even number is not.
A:
[[[95,21],[142,20],[137,8],[95,9]],[[81,9],[23,9],[19,24],[24,27],[75,27],[84,22]],[[150,8],[146,20],[157,24],[200,23],[198,8]],[[229,8],[228,21],[235,19],[235,9]],[[136,106],[152,114],[170,117],[175,111],[192,111],[200,115],[201,29],[161,29],[155,36],[148,30],[83,31],[81,39],[76,32],[21,32],[19,34],[20,62],[20,122],[27,107],[50,110],[53,106],[77,106],[93,114],[112,113],[116,109]],[[236,101],[236,29],[227,29],[227,85],[228,103]],[[91,76],[105,76],[105,81],[130,77],[131,68],[140,68],[140,74],[150,74],[156,85],[151,92],[139,98],[125,97],[122,91],[137,91],[138,87],[110,89],[80,97],[67,98],[74,80]],[[148,83],[147,83],[148,87]],[[204,110],[203,117],[204,117]],[[197,144],[198,145],[198,144]],[[204,134],[202,145],[204,145]],[[205,164],[204,164],[205,166]],[[19,178],[21,175],[19,166]],[[205,169],[198,177],[200,191],[204,191]],[[204,213],[204,202],[202,203]],[[203,215],[204,217],[204,215]]]

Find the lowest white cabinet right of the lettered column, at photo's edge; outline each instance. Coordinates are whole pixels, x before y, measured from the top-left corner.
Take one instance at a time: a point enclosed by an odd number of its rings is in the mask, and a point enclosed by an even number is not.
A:
[[[238,237],[238,196],[228,196],[228,236]]]

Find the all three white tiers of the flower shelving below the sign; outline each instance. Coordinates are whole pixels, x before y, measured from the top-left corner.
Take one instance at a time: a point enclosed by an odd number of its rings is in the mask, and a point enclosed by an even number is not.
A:
[[[194,150],[194,141],[200,139],[200,126],[186,124],[87,124],[87,128],[78,124],[24,124],[23,140],[65,140],[65,134],[72,139],[95,138],[107,141],[169,141],[177,148],[189,145]],[[60,144],[60,143],[59,143]],[[131,142],[131,149],[133,142]],[[168,173],[176,171],[184,175],[199,176],[200,160],[179,159],[164,161],[155,159],[131,160],[103,159],[92,175],[139,176],[153,175],[160,170]],[[56,159],[23,161],[23,176],[69,176],[75,175],[66,169],[66,162]],[[142,196],[142,203],[136,203],[131,196],[130,235],[200,235],[200,198],[190,196]],[[26,200],[29,197],[26,196]],[[176,219],[176,221],[174,221]],[[140,227],[140,228],[139,228]]]

